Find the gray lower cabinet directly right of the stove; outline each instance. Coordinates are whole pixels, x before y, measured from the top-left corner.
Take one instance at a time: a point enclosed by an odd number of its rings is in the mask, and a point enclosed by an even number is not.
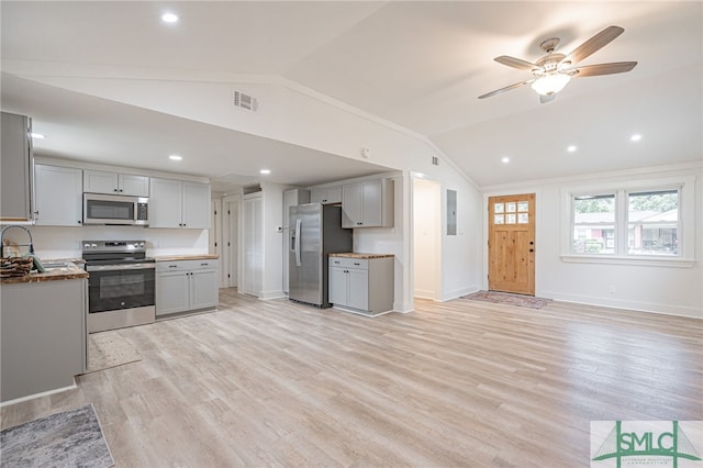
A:
[[[156,316],[214,309],[220,302],[217,260],[156,264]]]

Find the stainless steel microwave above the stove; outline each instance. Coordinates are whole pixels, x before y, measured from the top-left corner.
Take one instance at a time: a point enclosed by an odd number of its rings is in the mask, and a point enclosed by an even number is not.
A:
[[[147,226],[149,199],[102,193],[83,193],[83,224]]]

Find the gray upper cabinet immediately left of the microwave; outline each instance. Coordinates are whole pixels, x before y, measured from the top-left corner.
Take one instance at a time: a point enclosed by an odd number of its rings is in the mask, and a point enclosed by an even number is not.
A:
[[[74,167],[37,164],[36,224],[81,226],[83,171]]]

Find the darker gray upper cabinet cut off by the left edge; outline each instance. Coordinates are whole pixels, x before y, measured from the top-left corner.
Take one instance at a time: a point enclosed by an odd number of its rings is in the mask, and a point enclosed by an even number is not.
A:
[[[32,220],[32,121],[25,115],[2,112],[0,153],[0,220]]]

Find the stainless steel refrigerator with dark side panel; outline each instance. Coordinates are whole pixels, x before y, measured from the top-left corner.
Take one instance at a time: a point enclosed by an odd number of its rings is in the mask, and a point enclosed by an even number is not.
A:
[[[289,208],[288,297],[328,308],[327,256],[352,252],[352,230],[342,229],[342,207],[321,203]]]

